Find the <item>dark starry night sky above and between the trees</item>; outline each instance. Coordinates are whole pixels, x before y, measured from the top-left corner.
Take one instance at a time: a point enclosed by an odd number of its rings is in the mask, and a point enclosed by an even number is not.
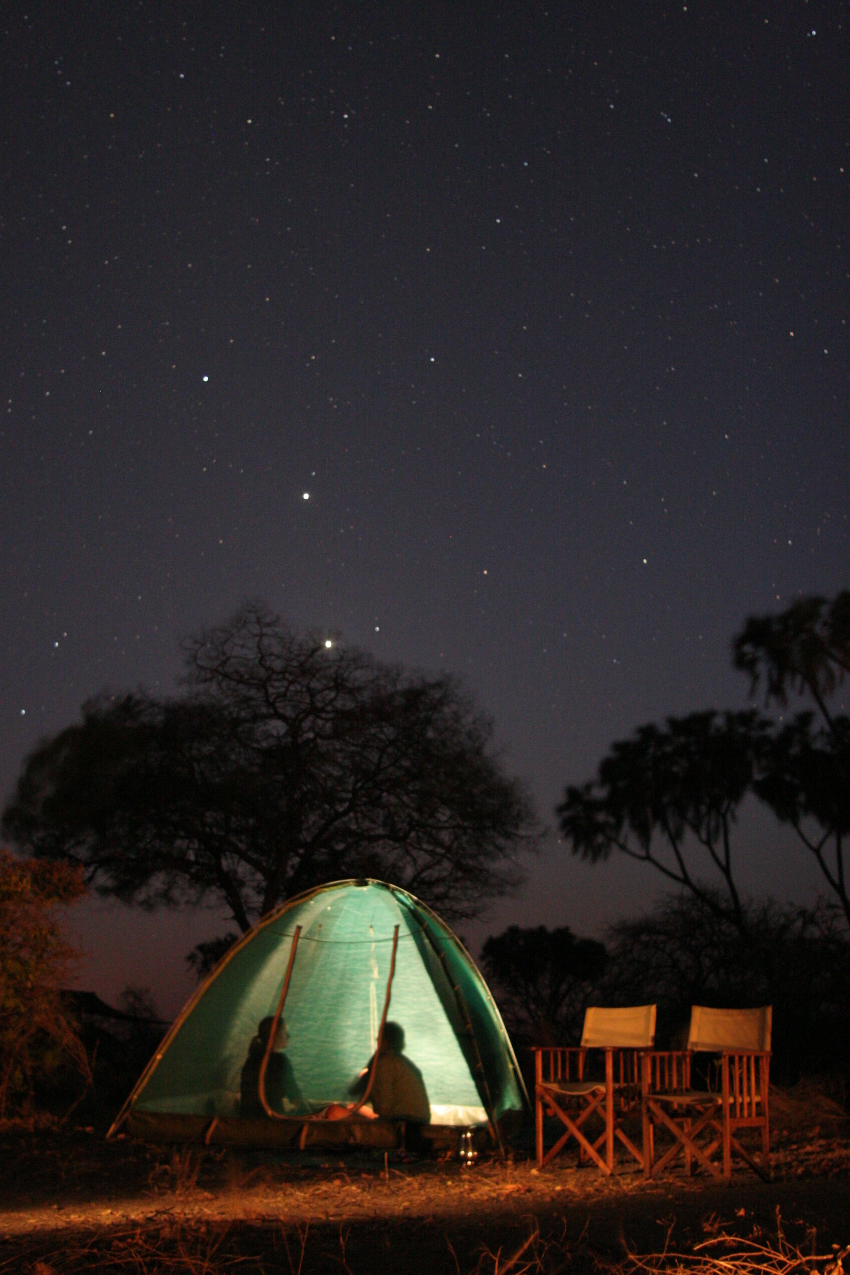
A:
[[[0,797],[246,597],[460,674],[553,827],[637,724],[743,705],[743,620],[850,583],[849,26],[6,6]],[[813,896],[771,825],[738,844],[747,889]],[[468,937],[656,890],[553,834]],[[82,986],[168,1014],[222,929],[74,924]]]

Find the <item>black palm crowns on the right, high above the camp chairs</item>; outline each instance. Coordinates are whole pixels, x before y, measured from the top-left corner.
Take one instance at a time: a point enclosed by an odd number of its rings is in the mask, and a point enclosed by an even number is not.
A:
[[[754,794],[814,857],[850,926],[850,718],[830,705],[850,673],[850,592],[751,616],[731,648],[751,694],[763,686],[766,704],[782,708],[790,695],[808,696],[822,724],[810,711],[789,722],[749,710],[638,727],[612,745],[595,780],[566,789],[561,830],[573,854],[596,862],[619,850],[649,863],[710,912],[728,912],[746,935],[731,831]]]

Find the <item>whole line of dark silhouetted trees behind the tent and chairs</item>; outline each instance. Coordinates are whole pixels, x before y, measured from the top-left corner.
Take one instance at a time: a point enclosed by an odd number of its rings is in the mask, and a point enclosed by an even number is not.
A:
[[[837,1003],[814,966],[846,970],[849,950],[850,719],[836,697],[850,672],[850,592],[751,617],[731,650],[751,696],[763,694],[766,710],[794,697],[798,711],[647,723],[612,743],[591,780],[566,787],[557,816],[573,856],[599,862],[617,852],[681,898],[613,927],[609,949],[566,927],[514,926],[488,938],[482,964],[516,1030],[575,1033],[591,992],[630,997],[646,992],[647,978],[666,988],[670,1020],[683,988],[781,994],[779,973],[793,968],[810,969],[823,1003]],[[503,771],[491,719],[455,678],[296,634],[263,603],[189,638],[184,659],[181,694],[101,695],[82,723],[25,759],[1,829],[29,857],[28,871],[66,863],[78,890],[145,908],[217,900],[240,932],[343,876],[393,880],[455,922],[517,889],[543,829],[526,787]],[[749,796],[813,857],[828,908],[742,896],[734,833]],[[10,877],[14,862],[3,858],[0,875]],[[234,937],[189,955],[199,977]],[[705,965],[712,947],[739,969],[737,983]],[[631,983],[612,973],[626,950]],[[677,952],[678,991],[654,950]],[[802,1024],[798,1010],[789,1020]]]

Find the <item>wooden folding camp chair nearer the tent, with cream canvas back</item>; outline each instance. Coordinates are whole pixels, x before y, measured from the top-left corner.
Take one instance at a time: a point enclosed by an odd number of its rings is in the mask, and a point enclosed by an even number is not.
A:
[[[589,1158],[603,1173],[614,1168],[614,1139],[644,1164],[642,1153],[621,1127],[621,1117],[640,1102],[640,1051],[655,1042],[655,1006],[637,1005],[609,1010],[591,1006],[579,1048],[537,1046],[534,1048],[534,1116],[537,1160],[540,1168],[558,1155],[570,1139],[579,1144],[581,1160]],[[589,1077],[587,1053],[604,1053],[603,1075]],[[601,1070],[601,1068],[600,1068]],[[543,1117],[554,1116],[566,1127],[544,1154]],[[585,1126],[595,1117],[603,1131],[591,1141]],[[599,1154],[604,1146],[604,1159]]]

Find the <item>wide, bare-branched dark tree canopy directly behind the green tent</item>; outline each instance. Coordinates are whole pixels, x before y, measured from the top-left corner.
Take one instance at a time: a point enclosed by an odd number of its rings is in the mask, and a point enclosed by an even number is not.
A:
[[[241,931],[321,881],[380,876],[450,918],[520,880],[538,827],[492,725],[260,604],[185,644],[186,692],[102,696],[27,760],[4,829],[129,901],[218,900]]]

